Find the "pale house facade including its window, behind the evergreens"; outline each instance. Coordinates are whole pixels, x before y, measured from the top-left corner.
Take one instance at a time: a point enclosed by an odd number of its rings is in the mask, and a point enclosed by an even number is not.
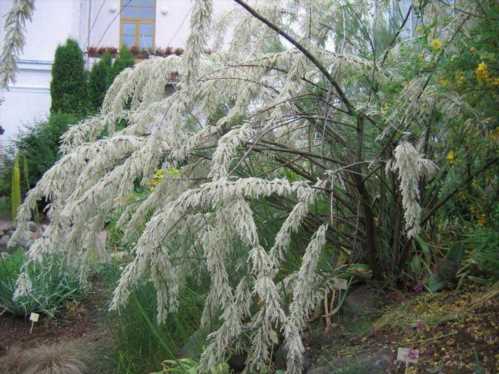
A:
[[[13,0],[0,0],[0,40],[3,19]],[[215,0],[215,15],[233,6],[232,0]],[[26,46],[18,62],[15,84],[0,91],[0,125],[7,142],[23,126],[47,117],[50,76],[55,50],[66,39],[78,41],[86,53],[118,49],[179,49],[189,33],[191,0],[37,0],[27,25]]]

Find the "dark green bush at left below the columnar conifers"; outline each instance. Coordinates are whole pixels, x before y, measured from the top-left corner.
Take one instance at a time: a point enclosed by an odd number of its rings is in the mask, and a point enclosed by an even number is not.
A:
[[[18,152],[26,159],[29,186],[34,187],[42,175],[59,159],[60,137],[76,123],[74,114],[52,113],[46,122],[25,129],[15,140]]]

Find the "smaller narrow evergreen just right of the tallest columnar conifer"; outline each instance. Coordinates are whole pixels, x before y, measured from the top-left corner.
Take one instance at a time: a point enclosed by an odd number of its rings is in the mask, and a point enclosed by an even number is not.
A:
[[[92,66],[88,79],[88,98],[93,112],[98,112],[112,83],[113,61],[110,53],[105,53]]]

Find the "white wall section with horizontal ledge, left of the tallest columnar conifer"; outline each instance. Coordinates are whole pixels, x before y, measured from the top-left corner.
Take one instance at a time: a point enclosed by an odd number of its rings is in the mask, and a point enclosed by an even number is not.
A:
[[[12,0],[0,0],[0,40],[4,16]],[[19,129],[47,117],[50,108],[50,70],[57,46],[68,37],[79,39],[79,0],[37,0],[31,23],[26,27],[26,46],[18,62],[15,84],[0,91],[0,125],[5,145]]]

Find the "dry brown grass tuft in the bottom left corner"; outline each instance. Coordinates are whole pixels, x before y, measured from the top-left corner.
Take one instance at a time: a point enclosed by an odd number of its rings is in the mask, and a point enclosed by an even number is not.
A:
[[[0,373],[5,374],[85,374],[81,353],[68,344],[37,348],[11,349],[0,358]]]

